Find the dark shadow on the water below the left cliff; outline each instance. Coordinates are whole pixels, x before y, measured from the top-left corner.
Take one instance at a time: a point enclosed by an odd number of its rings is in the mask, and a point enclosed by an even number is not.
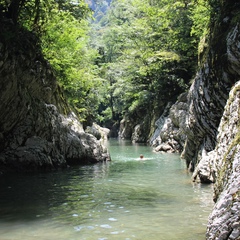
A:
[[[80,201],[79,195],[91,193],[94,179],[106,175],[105,170],[99,163],[53,173],[2,175],[0,221],[49,217],[51,209],[64,206],[66,201]]]

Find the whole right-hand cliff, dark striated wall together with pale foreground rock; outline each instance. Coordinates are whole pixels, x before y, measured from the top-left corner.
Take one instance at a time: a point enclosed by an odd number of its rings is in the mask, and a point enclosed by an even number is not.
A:
[[[216,204],[206,238],[236,240],[240,239],[240,3],[215,3],[208,46],[187,96],[186,115],[179,117],[185,123],[176,132],[186,136],[182,157],[194,171],[193,179],[215,182]],[[171,123],[165,132],[171,132],[178,115],[175,109],[165,117]],[[163,140],[159,133],[155,142]]]

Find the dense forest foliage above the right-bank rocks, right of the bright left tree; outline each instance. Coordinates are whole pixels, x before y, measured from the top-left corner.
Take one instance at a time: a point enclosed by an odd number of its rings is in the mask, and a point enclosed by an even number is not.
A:
[[[92,30],[106,90],[103,120],[139,117],[186,90],[208,21],[204,0],[113,1]]]

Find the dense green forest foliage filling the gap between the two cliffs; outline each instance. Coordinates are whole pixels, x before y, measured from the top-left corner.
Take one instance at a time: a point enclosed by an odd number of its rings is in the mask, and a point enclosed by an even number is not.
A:
[[[82,121],[114,124],[188,88],[207,34],[206,1],[87,2],[95,21],[84,0],[0,0],[1,19],[39,36]]]

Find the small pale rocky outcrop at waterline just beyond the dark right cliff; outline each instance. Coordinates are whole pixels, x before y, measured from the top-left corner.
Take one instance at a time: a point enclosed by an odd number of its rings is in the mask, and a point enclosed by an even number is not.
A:
[[[187,114],[186,93],[178,97],[178,101],[165,108],[161,117],[156,121],[156,130],[150,139],[155,151],[181,152],[186,136],[183,132]]]

